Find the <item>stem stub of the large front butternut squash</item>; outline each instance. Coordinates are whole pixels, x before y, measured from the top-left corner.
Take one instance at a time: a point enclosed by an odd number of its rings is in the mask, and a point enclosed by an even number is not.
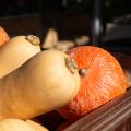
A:
[[[75,70],[78,69],[75,61],[72,58],[66,58],[66,66],[69,69],[69,71],[74,74]]]

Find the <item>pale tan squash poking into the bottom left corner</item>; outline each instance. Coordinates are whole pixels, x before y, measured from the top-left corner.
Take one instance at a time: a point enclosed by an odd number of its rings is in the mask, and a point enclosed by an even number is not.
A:
[[[0,121],[0,131],[36,131],[31,124],[20,119],[3,119]]]

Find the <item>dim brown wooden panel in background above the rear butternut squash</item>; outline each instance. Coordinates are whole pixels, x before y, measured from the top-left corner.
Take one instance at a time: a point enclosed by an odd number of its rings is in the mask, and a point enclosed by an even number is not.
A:
[[[0,17],[0,26],[5,28],[9,35],[37,34],[41,26],[41,15],[23,14],[19,16]]]

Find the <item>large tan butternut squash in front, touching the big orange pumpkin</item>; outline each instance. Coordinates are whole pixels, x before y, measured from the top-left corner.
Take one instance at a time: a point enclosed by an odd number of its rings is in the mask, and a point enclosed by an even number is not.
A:
[[[68,104],[78,93],[78,69],[66,66],[68,55],[46,50],[0,79],[0,117],[28,119]]]

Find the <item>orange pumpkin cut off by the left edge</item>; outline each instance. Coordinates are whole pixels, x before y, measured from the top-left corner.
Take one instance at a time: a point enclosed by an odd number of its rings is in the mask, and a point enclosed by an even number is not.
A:
[[[4,45],[9,40],[8,33],[0,26],[0,46]]]

